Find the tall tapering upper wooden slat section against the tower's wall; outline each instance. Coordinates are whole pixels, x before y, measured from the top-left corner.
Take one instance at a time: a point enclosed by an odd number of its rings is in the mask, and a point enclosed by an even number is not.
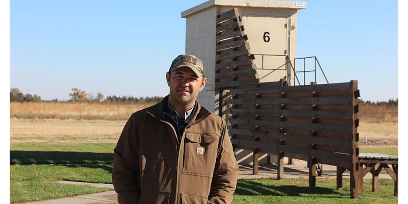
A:
[[[228,89],[259,84],[248,38],[236,8],[217,16],[215,88]]]

